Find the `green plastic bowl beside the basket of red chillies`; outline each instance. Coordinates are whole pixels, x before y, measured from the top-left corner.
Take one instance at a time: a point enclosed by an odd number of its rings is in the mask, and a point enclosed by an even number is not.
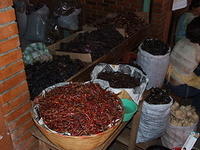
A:
[[[133,100],[121,99],[124,107],[124,117],[123,121],[129,121],[137,111],[137,104]]]

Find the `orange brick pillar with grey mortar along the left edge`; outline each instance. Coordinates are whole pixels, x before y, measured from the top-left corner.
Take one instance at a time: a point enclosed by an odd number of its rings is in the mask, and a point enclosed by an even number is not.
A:
[[[31,103],[12,5],[12,0],[0,1],[0,112],[14,150],[28,150],[37,141],[30,132]]]

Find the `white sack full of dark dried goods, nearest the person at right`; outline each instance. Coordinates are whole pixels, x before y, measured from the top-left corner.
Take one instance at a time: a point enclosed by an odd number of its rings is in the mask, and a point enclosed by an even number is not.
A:
[[[170,47],[158,39],[145,39],[138,47],[137,64],[149,78],[147,89],[161,87],[169,65]]]

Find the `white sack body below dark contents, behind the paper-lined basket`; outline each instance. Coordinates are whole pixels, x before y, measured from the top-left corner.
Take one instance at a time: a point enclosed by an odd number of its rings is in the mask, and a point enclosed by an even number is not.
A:
[[[137,54],[137,64],[142,67],[149,78],[147,89],[152,87],[162,87],[169,65],[169,54],[154,56],[139,46]],[[169,49],[170,52],[170,49]]]

